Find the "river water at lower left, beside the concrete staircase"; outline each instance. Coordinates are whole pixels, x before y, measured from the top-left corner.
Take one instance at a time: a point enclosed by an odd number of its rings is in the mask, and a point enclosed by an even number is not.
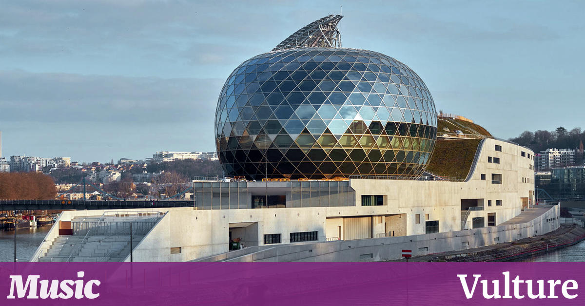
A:
[[[20,228],[16,231],[16,259],[29,262],[51,226]],[[0,230],[0,262],[14,261],[14,231]]]

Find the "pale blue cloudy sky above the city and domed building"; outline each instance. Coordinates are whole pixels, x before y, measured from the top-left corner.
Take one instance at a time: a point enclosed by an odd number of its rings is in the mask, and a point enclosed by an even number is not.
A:
[[[233,68],[341,9],[343,47],[407,64],[437,110],[505,139],[581,126],[582,1],[4,0],[3,156],[214,151]]]

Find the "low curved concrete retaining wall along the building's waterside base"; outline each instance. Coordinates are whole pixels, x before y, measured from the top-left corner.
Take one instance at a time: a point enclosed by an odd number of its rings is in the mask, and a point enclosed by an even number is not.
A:
[[[543,208],[540,208],[543,209]],[[412,256],[442,253],[494,245],[495,243],[543,235],[560,226],[560,209],[548,207],[531,221],[514,225],[490,226],[464,231],[414,236],[316,242],[275,246],[227,259],[228,262],[377,262],[400,259],[403,249]],[[208,260],[203,260],[208,261]]]

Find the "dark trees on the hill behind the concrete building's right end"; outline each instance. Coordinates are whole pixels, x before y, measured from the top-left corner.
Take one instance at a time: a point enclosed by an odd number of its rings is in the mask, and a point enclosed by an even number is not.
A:
[[[579,149],[585,142],[585,132],[581,128],[567,130],[559,126],[555,130],[537,130],[530,132],[525,130],[518,137],[510,138],[518,145],[529,147],[535,153],[549,148],[556,149]]]

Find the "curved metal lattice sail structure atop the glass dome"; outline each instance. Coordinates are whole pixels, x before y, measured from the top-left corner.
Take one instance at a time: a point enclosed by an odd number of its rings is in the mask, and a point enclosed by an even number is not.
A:
[[[337,28],[342,15],[328,15],[294,32],[272,51],[297,47],[341,47],[341,33]]]

